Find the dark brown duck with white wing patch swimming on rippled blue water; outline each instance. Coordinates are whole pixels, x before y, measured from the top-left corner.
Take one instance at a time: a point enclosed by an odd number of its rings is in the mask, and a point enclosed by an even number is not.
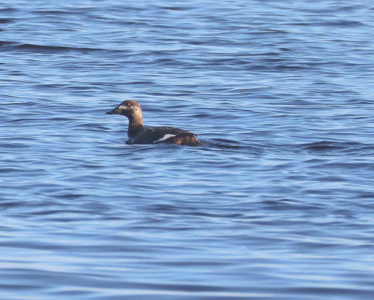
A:
[[[196,134],[186,130],[169,127],[144,127],[143,116],[137,101],[126,100],[107,115],[123,115],[129,119],[128,140],[126,144],[176,144],[186,146],[200,145]]]

